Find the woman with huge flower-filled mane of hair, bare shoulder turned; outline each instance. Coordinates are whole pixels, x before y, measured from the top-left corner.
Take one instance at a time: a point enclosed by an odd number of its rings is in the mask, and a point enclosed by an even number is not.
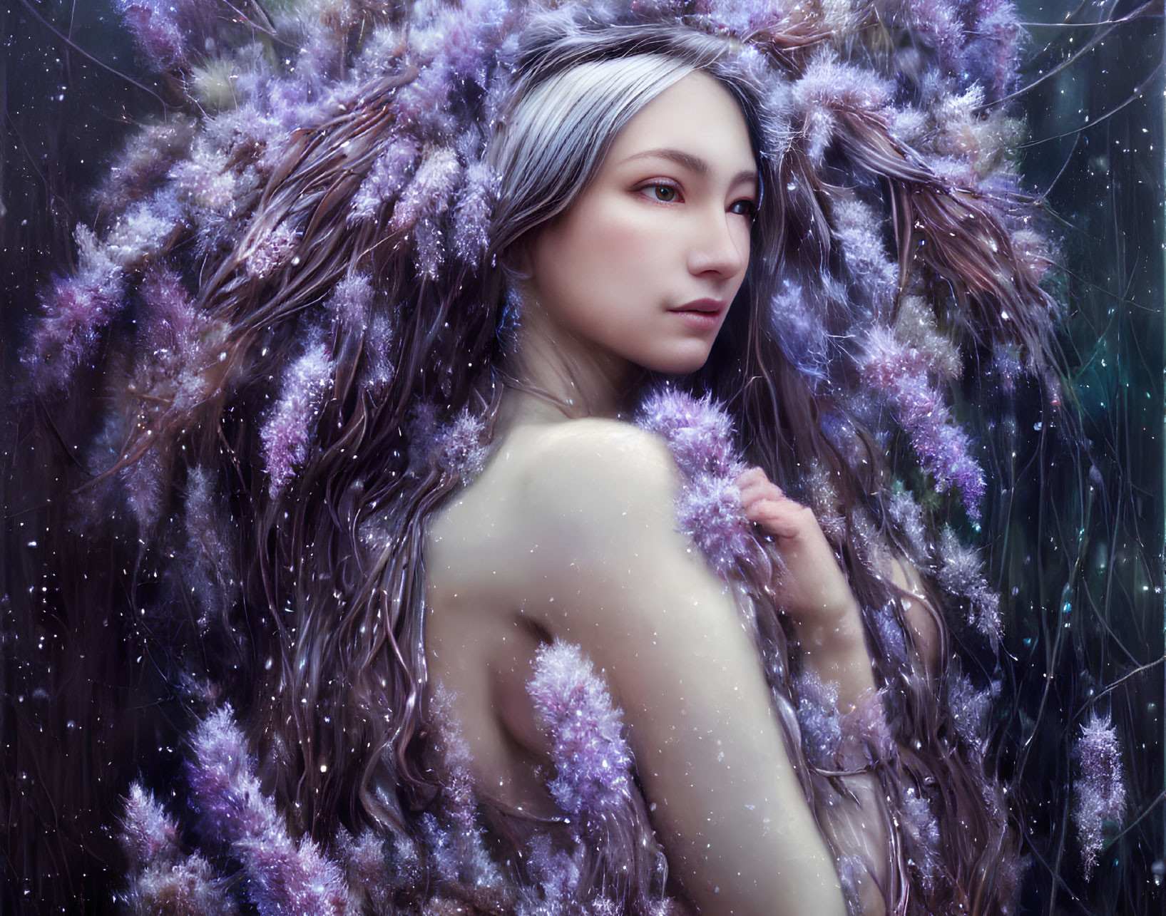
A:
[[[185,839],[131,796],[134,906],[226,906],[208,875],[241,868],[265,911],[1003,911],[983,699],[856,414],[890,406],[974,513],[925,296],[1040,366],[1039,239],[899,139],[826,9],[382,24],[356,59],[309,36],[298,82],[252,55],[252,110],[82,233],[57,293],[131,276],[97,481],[125,486],[134,576],[194,596],[216,685]],[[293,89],[310,126],[276,117]],[[87,357],[45,326],[42,390]]]

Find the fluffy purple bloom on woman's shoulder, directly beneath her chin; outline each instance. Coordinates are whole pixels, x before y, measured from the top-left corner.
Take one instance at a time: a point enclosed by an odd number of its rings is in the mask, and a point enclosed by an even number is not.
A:
[[[660,388],[640,406],[637,424],[662,436],[680,470],[690,478],[714,474],[736,479],[744,465],[732,445],[732,420],[709,396],[700,400]]]

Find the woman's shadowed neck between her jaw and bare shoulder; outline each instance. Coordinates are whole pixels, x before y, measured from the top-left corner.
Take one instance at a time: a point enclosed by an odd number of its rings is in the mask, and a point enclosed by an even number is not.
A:
[[[524,308],[518,346],[506,364],[513,379],[503,397],[505,430],[526,423],[618,417],[642,369],[598,350],[549,318]]]

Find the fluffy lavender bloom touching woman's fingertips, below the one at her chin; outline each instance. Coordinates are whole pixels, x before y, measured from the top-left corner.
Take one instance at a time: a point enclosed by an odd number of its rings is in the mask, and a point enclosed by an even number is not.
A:
[[[754,552],[757,542],[732,479],[698,474],[676,498],[676,523],[722,577],[739,557]]]

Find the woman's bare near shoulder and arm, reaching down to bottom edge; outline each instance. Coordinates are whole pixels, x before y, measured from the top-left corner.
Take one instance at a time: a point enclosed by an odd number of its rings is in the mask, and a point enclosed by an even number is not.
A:
[[[521,507],[540,557],[541,596],[526,612],[605,671],[693,901],[704,914],[844,913],[753,644],[675,530],[667,449],[625,424],[580,421],[541,452]]]

